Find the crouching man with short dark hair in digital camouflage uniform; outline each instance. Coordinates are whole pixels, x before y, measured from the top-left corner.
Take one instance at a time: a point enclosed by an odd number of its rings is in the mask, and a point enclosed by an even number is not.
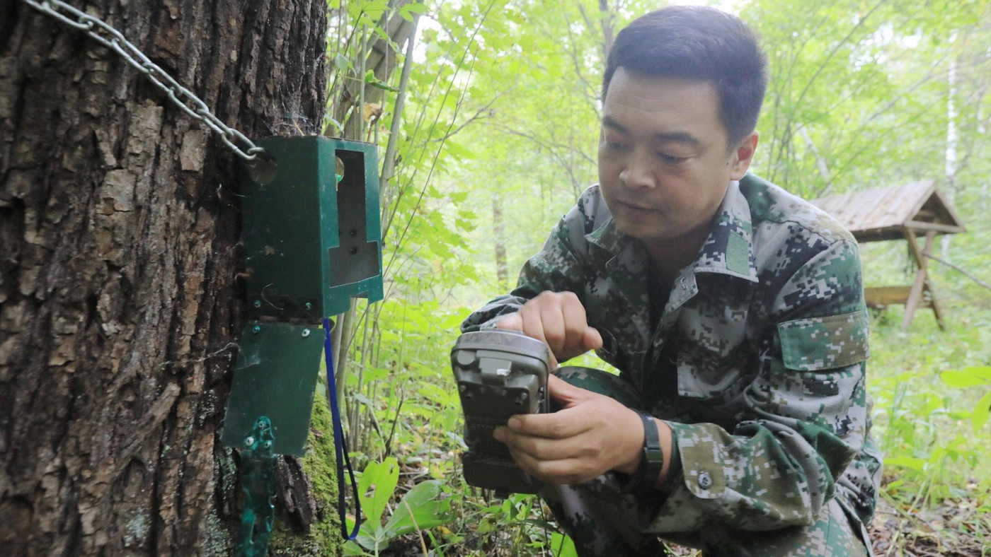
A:
[[[463,330],[557,361],[560,410],[495,430],[582,555],[867,555],[880,455],[857,245],[747,174],[765,59],[737,18],[669,7],[622,30],[598,186]],[[607,395],[607,396],[606,396]]]

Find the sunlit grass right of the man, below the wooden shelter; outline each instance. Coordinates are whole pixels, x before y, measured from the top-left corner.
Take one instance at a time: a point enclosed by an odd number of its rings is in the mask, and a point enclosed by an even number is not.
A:
[[[876,314],[869,392],[874,435],[885,453],[873,523],[878,555],[991,554],[991,434],[971,415],[991,387],[950,387],[947,370],[991,364],[991,312],[948,308],[903,329],[901,308]]]

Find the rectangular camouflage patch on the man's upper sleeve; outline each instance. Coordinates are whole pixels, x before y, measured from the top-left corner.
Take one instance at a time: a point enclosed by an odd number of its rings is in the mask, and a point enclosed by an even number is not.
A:
[[[870,356],[869,328],[866,310],[779,324],[785,367],[818,371],[862,362]]]

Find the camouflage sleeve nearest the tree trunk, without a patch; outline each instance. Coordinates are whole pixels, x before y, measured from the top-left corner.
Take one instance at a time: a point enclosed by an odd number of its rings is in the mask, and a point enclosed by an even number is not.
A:
[[[594,217],[602,203],[598,191],[597,186],[586,190],[554,227],[540,251],[523,265],[516,288],[470,315],[461,325],[462,332],[494,328],[498,318],[516,313],[527,301],[547,290],[574,292],[582,298],[589,268],[584,236],[592,232]]]

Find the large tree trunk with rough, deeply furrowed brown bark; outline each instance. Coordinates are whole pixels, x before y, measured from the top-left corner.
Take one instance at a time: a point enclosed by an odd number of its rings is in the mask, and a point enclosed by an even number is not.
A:
[[[318,130],[323,0],[73,3],[247,136]],[[83,33],[14,0],[0,32],[0,547],[228,555],[237,159]]]

